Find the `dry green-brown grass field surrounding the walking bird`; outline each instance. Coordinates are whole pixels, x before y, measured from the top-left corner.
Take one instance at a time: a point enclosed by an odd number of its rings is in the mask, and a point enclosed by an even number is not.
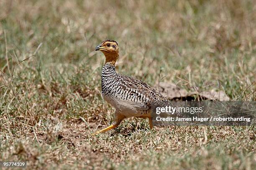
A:
[[[255,101],[254,0],[0,0],[0,160],[30,169],[256,169],[256,128],[149,130],[101,97],[105,39],[116,70]]]

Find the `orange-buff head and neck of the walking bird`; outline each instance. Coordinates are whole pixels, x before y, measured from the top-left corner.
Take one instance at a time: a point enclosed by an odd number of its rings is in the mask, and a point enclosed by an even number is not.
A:
[[[118,43],[114,40],[102,41],[96,48],[95,51],[100,50],[106,57],[106,63],[115,65],[116,60],[119,56]]]

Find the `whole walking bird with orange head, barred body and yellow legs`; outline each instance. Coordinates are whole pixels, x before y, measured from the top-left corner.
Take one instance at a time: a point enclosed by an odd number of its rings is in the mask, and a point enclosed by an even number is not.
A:
[[[128,117],[149,119],[149,127],[153,128],[152,112],[156,105],[164,105],[169,101],[146,82],[115,71],[115,62],[119,57],[119,46],[115,40],[104,40],[95,51],[105,55],[105,64],[101,72],[102,97],[115,107],[115,120],[112,125],[92,133],[96,135],[118,127]]]

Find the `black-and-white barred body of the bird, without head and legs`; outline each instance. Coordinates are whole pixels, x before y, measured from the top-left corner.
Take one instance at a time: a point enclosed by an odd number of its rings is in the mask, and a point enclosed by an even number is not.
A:
[[[102,68],[102,96],[125,117],[149,117],[151,102],[168,102],[159,92],[145,82],[115,72],[115,67],[105,64]]]

